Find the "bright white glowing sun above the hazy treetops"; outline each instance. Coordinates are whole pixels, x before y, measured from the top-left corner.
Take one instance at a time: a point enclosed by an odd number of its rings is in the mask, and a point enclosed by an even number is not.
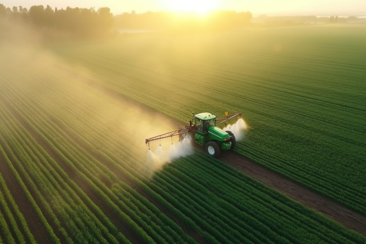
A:
[[[218,7],[218,0],[167,0],[168,10],[203,15]]]

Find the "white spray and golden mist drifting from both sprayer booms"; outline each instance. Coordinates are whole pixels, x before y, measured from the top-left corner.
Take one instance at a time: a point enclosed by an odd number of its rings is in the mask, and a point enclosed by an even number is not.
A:
[[[20,34],[14,33],[14,35],[23,40]],[[154,171],[176,158],[194,153],[189,135],[183,140],[175,137],[151,143],[149,150],[144,143],[146,138],[174,131],[185,124],[98,85],[94,80],[99,77],[90,70],[82,65],[70,65],[55,53],[40,48],[37,34],[33,34],[33,42],[22,45],[22,48],[11,44],[10,39],[9,37],[8,42],[1,48],[3,53],[1,63],[11,66],[9,72],[13,67],[22,65],[24,73],[32,74],[23,79],[17,79],[13,86],[23,87],[18,91],[19,94],[31,100],[37,97],[37,101],[34,102],[48,106],[50,111],[72,111],[72,114],[68,114],[62,120],[55,118],[56,123],[64,123],[79,134],[88,133],[90,141],[98,140],[98,134],[92,132],[98,127],[101,128],[100,133],[113,135],[115,147],[105,146],[105,149],[118,155],[122,149],[128,147],[129,154],[138,155],[139,158],[139,163],[134,166],[135,169],[144,172],[145,176],[151,176]],[[35,49],[37,52],[34,51]],[[14,69],[13,74],[15,75],[16,72]],[[44,79],[38,79],[34,83],[37,74],[44,75]],[[3,82],[10,84],[12,80],[14,79],[5,79]],[[46,87],[51,81],[57,84],[57,89],[53,90],[53,97],[46,92]],[[44,93],[37,95],[40,90],[44,90]],[[64,98],[66,94],[67,102],[55,102],[57,98]],[[75,101],[83,101],[88,105],[85,107]],[[98,103],[92,105],[90,101],[98,101]],[[83,117],[89,128],[83,127],[81,130],[74,124],[73,121],[78,120],[79,116]],[[241,119],[233,125],[228,125],[227,129],[234,132],[237,140],[240,140],[243,138],[245,127],[245,122]],[[103,150],[103,148],[98,147],[95,150]],[[85,149],[89,148],[85,147]]]

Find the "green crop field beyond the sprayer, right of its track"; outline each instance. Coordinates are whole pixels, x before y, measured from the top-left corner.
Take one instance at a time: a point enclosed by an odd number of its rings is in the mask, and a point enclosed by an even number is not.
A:
[[[249,128],[237,153],[366,214],[365,33],[143,35],[54,50],[94,83],[184,123],[191,111],[242,112]]]

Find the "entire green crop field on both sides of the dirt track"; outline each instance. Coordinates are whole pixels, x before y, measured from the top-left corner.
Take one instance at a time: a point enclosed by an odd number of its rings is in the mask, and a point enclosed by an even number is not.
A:
[[[242,112],[236,153],[366,215],[365,30],[0,47],[0,243],[365,243],[201,151],[149,164],[144,143]]]

